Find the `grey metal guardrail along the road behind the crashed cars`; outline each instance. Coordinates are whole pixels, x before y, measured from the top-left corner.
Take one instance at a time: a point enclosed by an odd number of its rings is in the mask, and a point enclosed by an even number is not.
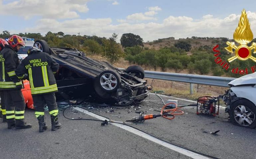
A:
[[[121,69],[121,70],[124,70],[124,69]],[[190,83],[190,94],[193,93],[193,84],[192,83],[214,85],[214,86],[220,86],[220,87],[229,87],[227,84],[231,80],[236,79],[236,78],[230,78],[230,77],[180,74],[180,73],[157,72],[157,71],[145,71],[145,78],[162,79],[162,80],[171,80],[171,81]]]

